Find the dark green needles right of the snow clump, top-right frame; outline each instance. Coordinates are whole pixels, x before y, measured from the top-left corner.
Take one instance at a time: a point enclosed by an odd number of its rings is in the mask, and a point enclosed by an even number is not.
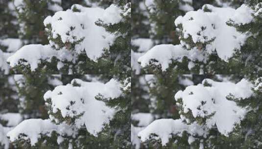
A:
[[[257,5],[261,0],[247,0],[246,1],[254,13],[258,11],[258,8],[262,8],[262,4]],[[257,5],[257,9],[255,6]],[[228,65],[231,65],[235,68],[240,68],[238,71],[242,74],[262,74],[261,67],[261,54],[262,54],[262,21],[261,13],[254,15],[254,20],[249,24],[236,24],[234,21],[230,20],[227,22],[228,25],[234,26],[241,33],[249,35],[246,40],[245,45],[239,50],[234,57],[229,61]],[[237,63],[235,62],[237,61]]]

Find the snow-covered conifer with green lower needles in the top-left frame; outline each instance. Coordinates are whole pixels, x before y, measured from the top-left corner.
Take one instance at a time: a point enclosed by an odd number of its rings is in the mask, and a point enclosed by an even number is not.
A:
[[[130,71],[130,20],[129,1],[104,10],[72,5],[44,20],[48,45],[26,45],[7,62],[22,74],[124,74]],[[26,53],[33,49],[31,59]]]

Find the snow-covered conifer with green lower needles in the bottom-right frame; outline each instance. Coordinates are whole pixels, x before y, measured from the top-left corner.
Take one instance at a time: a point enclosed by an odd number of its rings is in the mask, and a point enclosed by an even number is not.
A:
[[[207,77],[212,79],[204,79]],[[193,80],[196,84],[203,81],[174,96],[180,118],[158,118],[137,132],[143,148],[144,145],[149,149],[261,148],[261,78],[195,75]]]

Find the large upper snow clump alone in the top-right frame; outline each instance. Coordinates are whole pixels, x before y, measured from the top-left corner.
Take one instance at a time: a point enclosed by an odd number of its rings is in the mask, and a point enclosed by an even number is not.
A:
[[[204,8],[212,12],[204,12]],[[237,10],[206,4],[202,10],[190,11],[184,17],[179,16],[175,20],[175,25],[182,25],[184,38],[192,37],[194,43],[205,43],[214,39],[207,50],[209,52],[216,50],[218,56],[227,61],[233,56],[234,50],[240,49],[244,44],[246,35],[239,33],[235,27],[228,26],[226,22],[229,19],[233,21],[236,19],[238,23],[250,23],[253,19],[251,10],[244,4]]]

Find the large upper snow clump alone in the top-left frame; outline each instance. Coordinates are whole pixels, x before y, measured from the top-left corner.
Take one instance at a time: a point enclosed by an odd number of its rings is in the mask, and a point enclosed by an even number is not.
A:
[[[87,56],[96,60],[99,58],[103,49],[109,49],[113,43],[114,35],[105,30],[104,27],[95,25],[98,19],[105,23],[116,24],[121,21],[121,9],[116,5],[111,5],[105,10],[102,8],[87,8],[75,4],[81,12],[73,12],[72,10],[56,12],[52,17],[48,16],[44,20],[44,25],[48,24],[52,27],[53,38],[60,35],[63,43],[76,42],[84,38],[83,42],[76,45],[76,51],[86,51]]]

